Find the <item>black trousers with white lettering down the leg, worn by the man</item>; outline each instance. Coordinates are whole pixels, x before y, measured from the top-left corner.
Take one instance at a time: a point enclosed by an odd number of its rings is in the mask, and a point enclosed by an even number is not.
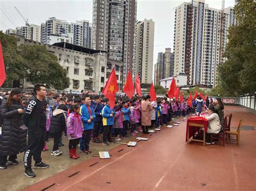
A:
[[[23,159],[25,168],[31,168],[32,156],[36,164],[42,161],[41,152],[44,148],[45,131],[45,128],[28,131],[28,145]]]

